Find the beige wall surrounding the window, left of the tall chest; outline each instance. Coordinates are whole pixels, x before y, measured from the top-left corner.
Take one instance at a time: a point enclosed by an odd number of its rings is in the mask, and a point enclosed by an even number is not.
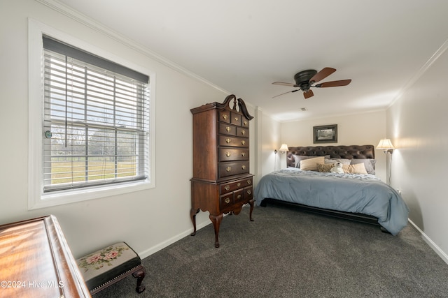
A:
[[[156,187],[110,198],[28,210],[28,17],[90,43],[156,74]],[[73,20],[34,0],[0,3],[0,224],[55,214],[75,257],[115,241],[127,241],[142,257],[188,236],[190,179],[193,173],[192,114],[204,103],[227,96],[151,53],[110,32]],[[162,63],[161,63],[162,62]],[[253,107],[248,106],[253,114]],[[251,128],[252,131],[252,128]],[[209,224],[197,216],[198,228]],[[214,239],[210,239],[210,245]]]

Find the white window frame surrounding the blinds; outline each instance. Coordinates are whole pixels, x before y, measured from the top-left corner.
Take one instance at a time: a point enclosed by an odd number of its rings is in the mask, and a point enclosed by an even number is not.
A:
[[[155,187],[155,73],[137,64],[117,57],[98,47],[94,47],[83,40],[58,31],[36,20],[29,19],[29,193],[28,209],[82,202],[113,195],[132,193]],[[149,156],[148,179],[144,181],[130,181],[120,184],[92,186],[89,188],[70,189],[66,191],[43,192],[42,181],[42,153],[43,153],[43,79],[42,79],[42,36],[50,36],[63,43],[78,47],[104,59],[134,69],[150,77],[150,124],[149,124]]]

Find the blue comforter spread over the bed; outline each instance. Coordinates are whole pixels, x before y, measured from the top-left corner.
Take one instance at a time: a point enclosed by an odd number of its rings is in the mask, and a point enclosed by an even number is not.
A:
[[[313,172],[290,167],[262,177],[254,195],[257,205],[265,198],[272,198],[375,216],[393,235],[405,228],[409,213],[397,191],[371,174]]]

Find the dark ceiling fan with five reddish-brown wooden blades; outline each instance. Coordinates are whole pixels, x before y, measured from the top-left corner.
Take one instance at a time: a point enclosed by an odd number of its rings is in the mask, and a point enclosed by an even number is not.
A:
[[[285,82],[273,82],[274,85],[283,85],[283,86],[289,86],[289,87],[297,87],[299,89],[295,89],[292,91],[288,91],[279,95],[274,96],[273,98],[277,96],[281,96],[283,94],[287,93],[293,93],[299,90],[303,91],[303,96],[305,99],[310,98],[311,96],[314,96],[313,91],[310,89],[313,88],[325,88],[325,87],[339,87],[339,86],[346,86],[350,84],[351,80],[339,80],[339,81],[332,81],[332,82],[324,82],[320,84],[315,84],[316,82],[319,82],[325,77],[328,77],[328,75],[331,75],[336,70],[335,68],[325,67],[323,70],[317,72],[317,70],[309,69],[309,70],[303,70],[299,73],[296,73],[294,75],[295,84],[292,83],[285,83]]]

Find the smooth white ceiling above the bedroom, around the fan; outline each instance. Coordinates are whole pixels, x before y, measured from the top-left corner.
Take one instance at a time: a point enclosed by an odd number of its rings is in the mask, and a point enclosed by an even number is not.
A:
[[[384,109],[448,39],[446,0],[59,1],[279,121]],[[272,98],[324,67],[351,84]]]

